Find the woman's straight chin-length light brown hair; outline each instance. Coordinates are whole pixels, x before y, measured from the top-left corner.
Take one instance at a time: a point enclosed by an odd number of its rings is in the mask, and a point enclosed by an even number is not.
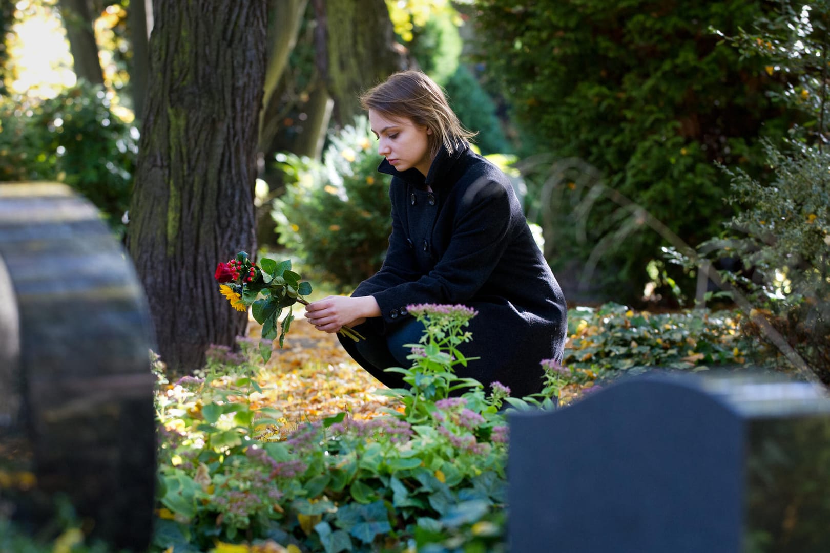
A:
[[[473,133],[461,125],[447,95],[437,83],[418,70],[398,71],[360,95],[360,105],[388,119],[407,118],[432,130],[427,137],[434,158],[442,145],[447,153],[463,148]]]

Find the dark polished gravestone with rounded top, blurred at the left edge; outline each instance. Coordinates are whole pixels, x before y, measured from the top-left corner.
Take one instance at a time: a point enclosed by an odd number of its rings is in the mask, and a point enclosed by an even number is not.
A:
[[[92,536],[146,551],[151,326],[100,213],[55,183],[0,184],[0,515],[36,533],[65,497]]]

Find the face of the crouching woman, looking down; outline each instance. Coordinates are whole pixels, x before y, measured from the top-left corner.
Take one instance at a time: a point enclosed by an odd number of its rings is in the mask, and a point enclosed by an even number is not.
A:
[[[414,124],[411,119],[387,119],[369,109],[369,124],[378,137],[378,153],[398,171],[415,167],[424,177],[432,165],[429,153],[431,129]]]

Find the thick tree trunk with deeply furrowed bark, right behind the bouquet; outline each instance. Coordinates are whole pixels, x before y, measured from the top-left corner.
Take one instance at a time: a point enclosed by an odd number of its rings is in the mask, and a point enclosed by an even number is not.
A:
[[[244,335],[246,313],[213,271],[253,254],[266,2],[156,0],[129,252],[168,370],[200,368],[212,343]],[[222,14],[214,17],[212,14]]]

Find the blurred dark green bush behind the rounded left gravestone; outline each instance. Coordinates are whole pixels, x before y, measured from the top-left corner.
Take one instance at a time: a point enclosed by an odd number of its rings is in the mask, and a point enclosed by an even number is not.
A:
[[[110,111],[99,86],[81,81],[32,104],[0,99],[0,181],[65,182],[123,233],[138,131]]]

